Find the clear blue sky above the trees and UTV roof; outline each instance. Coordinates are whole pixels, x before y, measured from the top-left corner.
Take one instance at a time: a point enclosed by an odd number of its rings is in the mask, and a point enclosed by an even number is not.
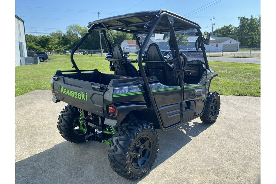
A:
[[[209,7],[208,7],[209,6]],[[66,32],[68,25],[87,26],[89,21],[138,11],[166,9],[187,17],[201,26],[201,31],[214,27],[239,25],[238,17],[257,17],[261,14],[260,0],[121,0],[119,1],[35,1],[16,0],[15,14],[25,21],[27,34],[48,35],[59,29]]]

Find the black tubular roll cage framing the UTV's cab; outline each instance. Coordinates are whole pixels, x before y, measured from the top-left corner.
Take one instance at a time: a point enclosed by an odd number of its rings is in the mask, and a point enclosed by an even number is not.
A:
[[[71,62],[73,64],[72,68],[75,68],[75,70],[77,70],[77,72],[78,72],[79,68],[77,67],[77,65],[75,63],[73,56],[74,56],[75,51],[79,48],[79,46],[83,43],[83,41],[87,38],[87,36],[89,36],[90,33],[95,32],[95,31],[102,31],[102,33],[104,35],[104,39],[105,39],[105,44],[106,44],[109,52],[111,52],[112,50],[110,50],[110,47],[108,45],[108,39],[106,37],[105,30],[113,29],[113,30],[117,30],[117,31],[121,31],[121,32],[132,33],[135,36],[135,40],[136,40],[136,43],[137,43],[138,47],[140,48],[139,52],[138,52],[137,63],[138,63],[138,67],[139,67],[139,70],[140,70],[141,75],[142,75],[142,79],[144,81],[145,92],[146,92],[146,94],[148,95],[148,98],[151,101],[152,108],[154,109],[154,111],[156,113],[156,117],[159,121],[159,125],[160,125],[161,130],[167,131],[167,130],[169,130],[171,128],[174,128],[178,125],[181,125],[182,123],[185,123],[185,122],[182,122],[182,116],[181,116],[180,122],[178,124],[172,125],[172,126],[167,127],[167,128],[163,127],[162,120],[160,118],[160,114],[159,114],[157,105],[155,103],[155,98],[154,98],[153,92],[152,92],[152,90],[149,86],[149,82],[148,82],[148,79],[147,79],[147,76],[146,76],[146,73],[145,73],[145,70],[144,70],[144,67],[143,67],[143,63],[142,63],[143,51],[145,50],[145,48],[146,48],[146,46],[147,46],[147,44],[148,44],[148,42],[151,38],[151,35],[153,33],[160,33],[160,30],[155,30],[155,27],[158,25],[161,18],[164,17],[164,16],[167,16],[167,25],[168,25],[169,29],[162,30],[162,31],[171,33],[171,38],[172,38],[173,45],[174,45],[174,55],[177,58],[174,61],[174,70],[175,70],[175,72],[177,72],[177,74],[175,74],[175,77],[180,79],[180,84],[179,85],[181,86],[182,102],[183,102],[183,98],[184,98],[184,95],[183,95],[183,93],[184,93],[184,88],[183,88],[183,86],[184,86],[184,83],[183,83],[184,70],[183,70],[183,66],[182,66],[181,57],[184,59],[184,61],[185,61],[185,59],[187,60],[187,58],[182,52],[179,51],[176,36],[175,36],[175,33],[174,33],[174,31],[183,30],[183,28],[174,29],[174,26],[173,26],[174,20],[176,20],[178,22],[181,22],[183,24],[186,24],[187,26],[189,26],[189,28],[197,29],[197,33],[198,33],[197,42],[199,42],[199,44],[201,46],[201,50],[203,52],[203,57],[204,57],[205,64],[206,64],[206,69],[208,69],[208,70],[209,70],[209,63],[208,63],[208,60],[207,60],[207,55],[206,55],[205,47],[204,47],[204,44],[203,44],[203,37],[201,36],[202,33],[201,33],[199,25],[192,22],[192,21],[190,21],[190,20],[188,20],[188,19],[186,19],[186,18],[184,18],[184,17],[180,17],[179,15],[171,13],[167,10],[159,10],[159,11],[160,11],[159,15],[152,14],[152,18],[149,21],[141,21],[141,22],[138,22],[138,23],[126,24],[121,18],[121,22],[123,22],[124,24],[107,27],[103,22],[109,21],[109,19],[113,20],[112,17],[107,18],[107,19],[101,19],[101,20],[98,20],[98,21],[94,21],[93,23],[95,23],[95,24],[93,24],[93,25],[91,25],[91,23],[89,23],[88,26],[91,26],[90,29],[82,37],[82,39],[75,46],[75,48],[72,50],[70,57],[71,57]],[[134,15],[136,15],[136,14],[135,13],[134,14],[126,14],[122,17],[134,16]],[[120,17],[120,16],[117,16],[117,17]],[[133,30],[122,29],[122,28],[125,28],[125,27],[143,26],[146,23],[150,24],[150,29],[149,30],[145,29],[145,31],[135,31],[135,30],[133,31]],[[138,40],[137,34],[145,34],[145,33],[147,33],[147,36],[145,37],[145,40],[144,40],[143,44],[141,45],[139,40]],[[195,43],[195,44],[197,44],[197,43]],[[182,112],[182,108],[183,107],[181,105],[181,112]],[[198,115],[198,116],[200,116],[200,115]]]

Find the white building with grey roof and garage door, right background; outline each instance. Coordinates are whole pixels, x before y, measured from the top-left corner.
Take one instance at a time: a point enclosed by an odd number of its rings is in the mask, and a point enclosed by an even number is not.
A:
[[[216,37],[210,40],[209,45],[205,45],[206,52],[237,52],[240,48],[240,42],[232,38]]]

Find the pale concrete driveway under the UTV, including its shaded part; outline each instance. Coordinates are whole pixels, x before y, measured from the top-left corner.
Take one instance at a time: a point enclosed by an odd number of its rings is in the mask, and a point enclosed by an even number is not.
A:
[[[56,122],[65,105],[52,102],[50,90],[15,98],[16,183],[260,183],[259,97],[221,96],[214,124],[197,118],[189,128],[158,130],[154,167],[136,181],[111,169],[106,144],[73,144],[59,135]]]

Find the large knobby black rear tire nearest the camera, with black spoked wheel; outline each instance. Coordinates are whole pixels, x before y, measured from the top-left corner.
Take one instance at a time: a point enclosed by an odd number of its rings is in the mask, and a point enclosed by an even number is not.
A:
[[[108,159],[117,174],[136,180],[151,170],[159,151],[159,136],[144,121],[128,121],[112,137]]]

